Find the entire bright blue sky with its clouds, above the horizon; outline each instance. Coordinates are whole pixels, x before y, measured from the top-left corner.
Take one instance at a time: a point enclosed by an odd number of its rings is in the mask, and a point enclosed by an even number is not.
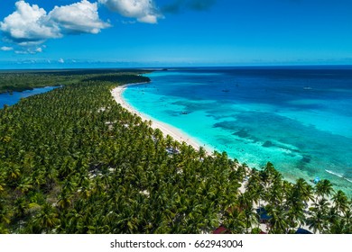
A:
[[[0,0],[0,68],[352,65],[351,0]]]

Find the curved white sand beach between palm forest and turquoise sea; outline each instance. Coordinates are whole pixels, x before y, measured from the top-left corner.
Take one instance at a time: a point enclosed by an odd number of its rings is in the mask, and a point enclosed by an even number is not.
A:
[[[196,150],[199,150],[199,147],[203,147],[205,148],[208,154],[211,154],[214,151],[208,148],[205,144],[200,143],[198,140],[191,138],[190,135],[181,131],[180,129],[175,128],[168,123],[158,121],[143,112],[139,112],[131,104],[127,103],[122,96],[122,94],[125,92],[125,89],[130,85],[142,85],[142,84],[149,84],[149,82],[118,85],[113,90],[111,90],[111,94],[113,95],[116,103],[119,103],[127,111],[137,114],[144,121],[152,121],[151,127],[154,130],[155,129],[162,130],[164,137],[166,137],[167,135],[170,135],[172,139],[177,140],[179,142],[185,142],[186,144],[192,146]]]

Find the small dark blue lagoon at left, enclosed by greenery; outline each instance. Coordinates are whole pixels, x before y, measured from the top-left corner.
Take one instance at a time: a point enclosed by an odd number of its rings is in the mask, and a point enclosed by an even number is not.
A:
[[[23,92],[13,92],[12,94],[5,93],[5,94],[0,94],[0,109],[4,107],[4,105],[14,105],[15,103],[18,103],[22,98],[34,95],[34,94],[42,94],[48,91],[51,91],[52,89],[57,88],[57,86],[45,86],[45,87],[39,87],[39,88],[34,88],[32,90],[25,90]]]

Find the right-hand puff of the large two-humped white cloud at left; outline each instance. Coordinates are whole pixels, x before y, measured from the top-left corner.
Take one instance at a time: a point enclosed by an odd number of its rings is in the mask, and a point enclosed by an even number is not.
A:
[[[48,14],[49,20],[60,26],[64,33],[98,33],[110,26],[99,19],[97,3],[82,0],[76,4],[55,6]]]

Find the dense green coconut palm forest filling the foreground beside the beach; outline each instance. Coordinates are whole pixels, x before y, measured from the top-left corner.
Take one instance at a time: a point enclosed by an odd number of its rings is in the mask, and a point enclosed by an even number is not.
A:
[[[144,76],[82,79],[0,110],[0,233],[255,233],[257,205],[271,233],[351,233],[351,200],[329,181],[291,184],[163,136],[110,93]]]

